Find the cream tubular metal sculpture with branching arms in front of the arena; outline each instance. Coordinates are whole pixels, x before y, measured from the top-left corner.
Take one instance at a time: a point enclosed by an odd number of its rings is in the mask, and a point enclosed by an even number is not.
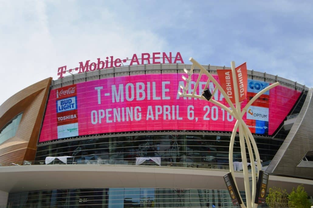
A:
[[[257,207],[258,204],[254,203],[254,198],[256,195],[256,177],[258,177],[259,171],[261,170],[261,161],[260,161],[260,156],[259,156],[259,151],[258,151],[257,145],[254,141],[254,137],[253,137],[250,129],[248,128],[247,124],[242,119],[242,117],[247,112],[250,105],[256,99],[258,99],[262,94],[264,94],[269,89],[272,89],[272,88],[276,87],[277,85],[279,85],[279,83],[276,82],[274,84],[269,85],[265,89],[261,90],[258,94],[256,94],[248,102],[248,104],[241,111],[241,104],[239,102],[238,86],[237,86],[237,79],[236,79],[236,74],[235,74],[235,62],[234,61],[231,62],[231,68],[232,68],[233,88],[234,88],[236,107],[233,105],[233,103],[231,102],[228,95],[225,93],[225,91],[221,87],[221,85],[213,78],[213,76],[205,68],[203,68],[202,65],[200,65],[193,58],[189,58],[189,61],[192,62],[192,66],[191,66],[190,71],[188,71],[186,68],[184,68],[184,72],[188,75],[188,78],[185,76],[182,76],[182,79],[184,79],[186,81],[186,85],[181,86],[182,92],[178,92],[178,94],[180,97],[191,97],[191,98],[208,100],[209,102],[216,104],[219,107],[226,110],[230,115],[232,115],[237,120],[235,125],[234,125],[233,132],[232,132],[232,135],[230,138],[230,144],[229,144],[229,155],[228,155],[229,170],[233,175],[233,172],[234,172],[233,145],[234,145],[234,140],[235,140],[237,129],[239,128],[240,150],[241,150],[241,157],[242,157],[242,162],[243,162],[244,187],[245,187],[245,195],[246,195],[246,206],[244,205],[244,203],[242,203],[241,207],[243,207],[243,208],[245,208],[245,207],[247,207],[247,208]],[[192,79],[191,76],[193,74],[195,67],[198,67],[200,69],[200,73],[198,75],[198,79],[197,79],[197,82],[195,84],[195,87],[193,88],[194,89],[193,92],[191,94],[187,94],[188,85]],[[201,76],[203,74],[205,74],[208,77],[208,79],[207,79],[207,82],[206,82],[204,89],[201,89],[202,93],[198,95],[198,94],[196,94],[196,89],[198,88],[199,81],[200,81]],[[207,89],[210,81],[213,82],[213,84],[215,85],[213,92],[208,92],[208,89]],[[220,90],[220,92],[223,94],[223,96],[226,99],[226,102],[228,103],[230,109],[227,106],[225,106],[224,104],[212,99],[212,97],[213,97],[212,95],[214,95],[217,92],[217,90]],[[250,190],[250,185],[249,185],[249,173],[248,173],[245,142],[247,144],[247,149],[249,151],[249,159],[251,161],[252,195],[250,192],[251,190]],[[252,144],[253,149],[251,147],[251,144]],[[253,151],[254,151],[254,154],[253,154]],[[255,155],[255,159],[254,159],[254,155]],[[257,170],[258,170],[257,173],[255,171],[255,164],[253,162],[255,160],[257,162]],[[238,190],[237,184],[236,184],[236,179],[235,179],[234,175],[233,175],[233,178],[234,178],[234,182],[235,182],[235,186],[236,186],[235,188]],[[240,195],[239,195],[239,197],[241,198]],[[242,199],[241,199],[241,201],[242,201]]]

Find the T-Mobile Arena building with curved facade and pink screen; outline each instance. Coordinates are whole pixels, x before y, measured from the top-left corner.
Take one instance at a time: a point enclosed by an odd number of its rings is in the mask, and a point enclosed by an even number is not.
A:
[[[60,79],[6,100],[0,207],[233,207],[223,175],[235,119],[212,103],[179,97],[183,68],[191,65],[180,53],[160,54],[60,67]],[[217,80],[216,70],[227,68],[203,67]],[[313,90],[248,70],[242,105],[275,82],[280,86],[256,100],[244,120],[269,187],[303,184],[313,196]],[[191,82],[188,92],[205,85],[200,80],[193,89]],[[220,92],[213,96],[226,104]],[[239,138],[233,161],[241,161]],[[244,194],[240,168],[235,175]]]

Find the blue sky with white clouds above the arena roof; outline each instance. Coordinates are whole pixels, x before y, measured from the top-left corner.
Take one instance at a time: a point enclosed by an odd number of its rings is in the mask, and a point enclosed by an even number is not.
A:
[[[313,87],[311,1],[1,1],[0,104],[60,66],[177,52]]]

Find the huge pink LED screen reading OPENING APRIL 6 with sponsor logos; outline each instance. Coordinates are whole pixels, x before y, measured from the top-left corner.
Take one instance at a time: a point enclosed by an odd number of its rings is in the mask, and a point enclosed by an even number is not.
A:
[[[193,75],[196,80],[198,75]],[[214,76],[214,75],[213,75]],[[39,142],[87,134],[146,130],[232,131],[235,119],[207,101],[180,98],[182,74],[146,74],[100,79],[50,91]],[[218,80],[218,76],[214,76]],[[204,88],[203,76],[198,86]],[[248,79],[247,99],[269,83]],[[194,82],[189,84],[192,92]],[[211,92],[213,83],[209,84]],[[244,115],[252,133],[271,135],[289,113],[299,91],[278,86]],[[214,99],[226,105],[218,91]]]

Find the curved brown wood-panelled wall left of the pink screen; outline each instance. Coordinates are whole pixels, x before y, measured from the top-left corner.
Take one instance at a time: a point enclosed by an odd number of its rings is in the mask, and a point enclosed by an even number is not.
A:
[[[15,136],[0,144],[0,164],[34,160],[51,80],[44,79],[19,91],[0,106],[0,129],[23,112]]]

